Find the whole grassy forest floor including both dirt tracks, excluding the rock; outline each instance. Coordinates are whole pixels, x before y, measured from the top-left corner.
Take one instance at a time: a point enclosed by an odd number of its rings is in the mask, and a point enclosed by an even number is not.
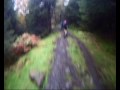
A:
[[[30,70],[45,73],[41,89],[115,89],[115,46],[94,37],[72,28],[67,38],[53,33],[41,40],[4,71],[5,89],[38,89]],[[25,63],[19,67],[21,62]]]

